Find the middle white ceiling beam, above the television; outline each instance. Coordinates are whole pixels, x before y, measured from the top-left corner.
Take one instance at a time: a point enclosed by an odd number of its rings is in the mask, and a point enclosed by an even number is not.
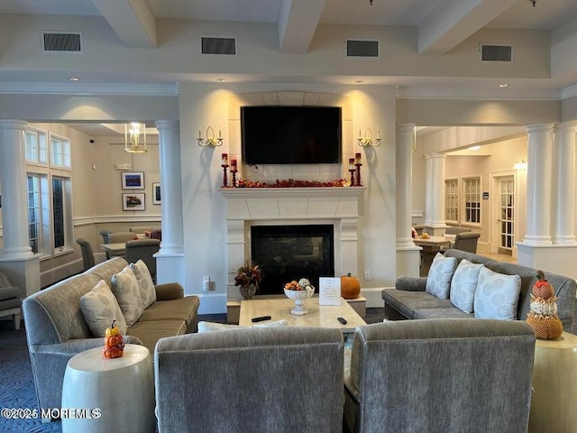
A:
[[[279,51],[306,53],[325,0],[283,0],[279,14]]]

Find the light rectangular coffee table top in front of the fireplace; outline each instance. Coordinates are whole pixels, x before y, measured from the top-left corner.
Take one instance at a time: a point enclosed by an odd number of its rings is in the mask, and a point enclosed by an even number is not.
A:
[[[344,299],[341,299],[341,305],[319,305],[318,300],[317,296],[305,299],[304,306],[308,310],[308,314],[305,316],[293,316],[290,314],[290,310],[295,307],[293,299],[243,300],[241,302],[239,325],[241,327],[250,327],[254,325],[252,318],[270,316],[270,320],[258,323],[284,319],[287,320],[289,327],[332,327],[341,329],[343,334],[351,334],[356,327],[362,327],[367,324]],[[343,325],[337,318],[344,318],[347,323]]]

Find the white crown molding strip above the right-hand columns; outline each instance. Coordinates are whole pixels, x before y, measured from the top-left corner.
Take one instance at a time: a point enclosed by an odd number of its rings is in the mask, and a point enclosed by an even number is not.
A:
[[[577,91],[577,89],[576,89]],[[398,99],[560,100],[559,90],[398,88]]]

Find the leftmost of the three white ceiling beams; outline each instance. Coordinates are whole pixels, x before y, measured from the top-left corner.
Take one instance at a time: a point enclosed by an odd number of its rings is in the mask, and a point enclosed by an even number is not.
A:
[[[146,0],[92,0],[128,48],[156,48],[156,21]]]

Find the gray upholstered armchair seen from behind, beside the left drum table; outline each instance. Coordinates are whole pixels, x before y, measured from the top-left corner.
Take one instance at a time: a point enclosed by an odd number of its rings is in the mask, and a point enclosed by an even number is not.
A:
[[[342,342],[338,329],[319,327],[161,338],[154,351],[159,432],[341,431]]]

